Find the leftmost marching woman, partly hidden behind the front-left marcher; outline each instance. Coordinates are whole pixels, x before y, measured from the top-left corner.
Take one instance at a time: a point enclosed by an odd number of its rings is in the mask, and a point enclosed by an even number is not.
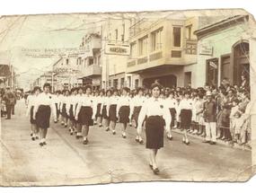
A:
[[[30,115],[30,122],[31,122],[31,140],[35,140],[39,138],[39,128],[37,127],[36,124],[36,119],[33,118],[33,111],[35,108],[35,104],[37,101],[37,97],[39,96],[41,90],[39,86],[34,87],[32,95],[30,95],[29,102],[28,102],[28,110],[26,113],[26,116],[29,117]]]

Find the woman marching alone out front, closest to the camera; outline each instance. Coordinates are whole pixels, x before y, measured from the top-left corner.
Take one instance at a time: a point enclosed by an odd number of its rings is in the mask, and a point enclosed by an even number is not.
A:
[[[161,85],[153,83],[151,86],[152,97],[142,106],[139,116],[137,129],[141,130],[142,123],[146,118],[146,148],[149,149],[149,166],[154,174],[159,173],[156,164],[156,154],[158,149],[163,147],[163,130],[170,130],[171,116],[166,103],[160,99]]]

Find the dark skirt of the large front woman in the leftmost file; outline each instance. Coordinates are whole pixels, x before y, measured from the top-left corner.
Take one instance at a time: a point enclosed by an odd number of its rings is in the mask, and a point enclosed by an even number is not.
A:
[[[36,123],[40,128],[49,128],[50,107],[49,105],[40,105],[36,114]]]

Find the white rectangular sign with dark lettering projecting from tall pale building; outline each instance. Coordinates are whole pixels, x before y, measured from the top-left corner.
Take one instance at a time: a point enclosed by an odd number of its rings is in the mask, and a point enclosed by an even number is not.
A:
[[[107,43],[105,46],[105,54],[129,56],[130,47],[128,44]]]

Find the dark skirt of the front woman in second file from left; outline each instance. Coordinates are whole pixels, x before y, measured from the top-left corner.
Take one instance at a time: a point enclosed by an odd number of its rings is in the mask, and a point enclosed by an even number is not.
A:
[[[78,113],[78,123],[83,126],[93,126],[93,108],[92,107],[81,107]]]

